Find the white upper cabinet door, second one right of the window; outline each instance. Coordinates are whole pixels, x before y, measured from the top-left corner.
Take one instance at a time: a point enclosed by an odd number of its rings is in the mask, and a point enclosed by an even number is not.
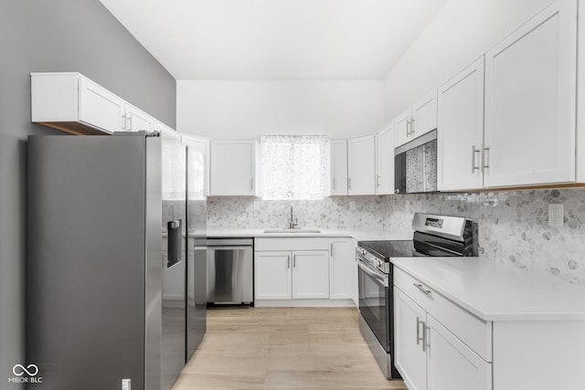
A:
[[[347,141],[349,195],[376,194],[376,136]]]

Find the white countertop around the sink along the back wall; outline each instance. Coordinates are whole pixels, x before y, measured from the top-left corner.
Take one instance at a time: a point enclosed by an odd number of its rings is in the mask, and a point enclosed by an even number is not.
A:
[[[308,227],[307,227],[308,228]],[[312,227],[311,227],[312,228]],[[384,229],[326,229],[319,228],[320,233],[264,233],[265,229],[208,229],[207,237],[352,237],[357,241],[381,239],[412,239],[410,236],[397,237]]]

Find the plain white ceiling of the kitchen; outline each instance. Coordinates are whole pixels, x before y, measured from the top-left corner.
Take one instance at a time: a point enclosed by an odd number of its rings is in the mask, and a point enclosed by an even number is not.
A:
[[[175,79],[384,79],[446,0],[101,0]]]

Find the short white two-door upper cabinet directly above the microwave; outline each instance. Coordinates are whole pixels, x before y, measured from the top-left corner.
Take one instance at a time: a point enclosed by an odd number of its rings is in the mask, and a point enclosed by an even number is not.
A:
[[[394,119],[395,147],[437,128],[437,90]]]

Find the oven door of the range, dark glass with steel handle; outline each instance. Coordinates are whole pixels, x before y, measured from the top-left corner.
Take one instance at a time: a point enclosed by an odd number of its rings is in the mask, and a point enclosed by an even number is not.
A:
[[[390,286],[388,275],[358,256],[359,311],[378,342],[390,353]]]

